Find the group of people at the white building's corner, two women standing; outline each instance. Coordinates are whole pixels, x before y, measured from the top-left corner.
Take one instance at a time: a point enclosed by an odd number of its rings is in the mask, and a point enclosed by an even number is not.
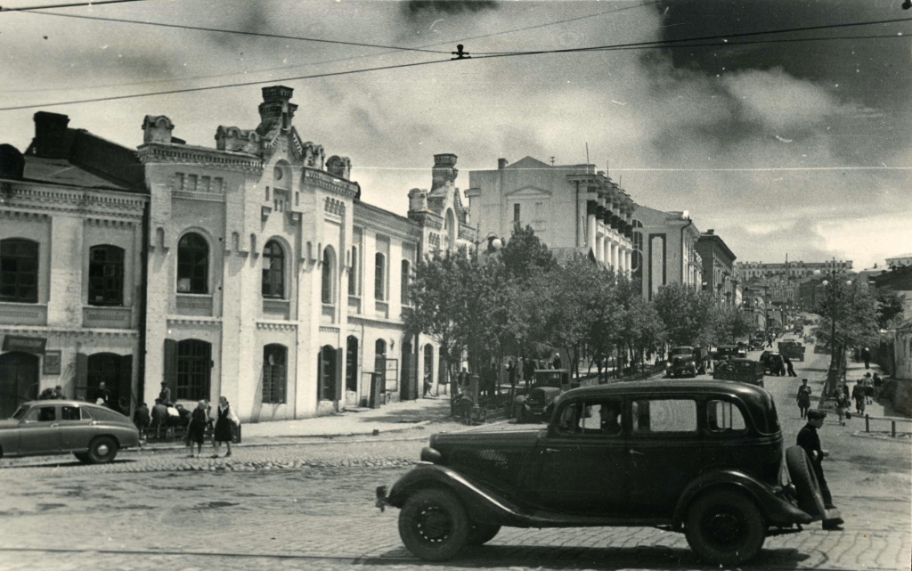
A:
[[[145,438],[149,431],[154,430],[157,437],[162,431],[165,437],[173,437],[179,427],[184,430],[183,441],[190,448],[190,457],[194,457],[193,445],[196,445],[195,456],[202,456],[202,444],[206,440],[206,432],[212,431],[212,458],[218,458],[225,443],[227,452],[225,457],[231,456],[231,443],[235,430],[241,426],[241,420],[234,414],[228,399],[219,398],[218,408],[212,415],[212,405],[207,400],[200,400],[196,408],[186,410],[180,403],[171,401],[171,389],[166,383],[161,383],[159,398],[155,406],[149,410],[143,402],[133,414],[133,423],[140,431],[140,438]]]

